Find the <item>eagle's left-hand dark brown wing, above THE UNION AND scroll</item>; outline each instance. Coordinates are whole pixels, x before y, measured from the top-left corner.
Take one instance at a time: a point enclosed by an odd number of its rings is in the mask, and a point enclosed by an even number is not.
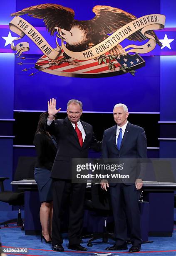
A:
[[[57,4],[41,4],[25,8],[11,16],[28,14],[34,18],[43,19],[47,30],[51,35],[55,32],[55,27],[64,28],[69,31],[74,21],[74,10]]]

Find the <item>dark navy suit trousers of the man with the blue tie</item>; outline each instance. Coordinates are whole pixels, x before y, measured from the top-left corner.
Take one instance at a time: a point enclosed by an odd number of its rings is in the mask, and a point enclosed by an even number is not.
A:
[[[114,215],[116,245],[120,246],[127,240],[127,223],[129,226],[130,241],[133,246],[141,246],[140,210],[139,196],[140,190],[136,190],[134,184],[124,183],[110,186],[112,200],[112,210]]]

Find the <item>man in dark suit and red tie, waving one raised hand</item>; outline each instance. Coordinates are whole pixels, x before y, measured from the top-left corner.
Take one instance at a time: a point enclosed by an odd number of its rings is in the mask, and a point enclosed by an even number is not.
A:
[[[69,208],[69,249],[87,251],[80,245],[83,227],[86,184],[72,184],[72,158],[87,158],[88,149],[101,150],[101,143],[94,136],[92,125],[82,122],[82,102],[69,100],[67,118],[53,120],[60,111],[56,100],[48,101],[47,128],[57,138],[57,154],[52,167],[53,219],[52,244],[54,251],[64,251],[60,225],[66,208]],[[68,203],[67,203],[68,202]]]

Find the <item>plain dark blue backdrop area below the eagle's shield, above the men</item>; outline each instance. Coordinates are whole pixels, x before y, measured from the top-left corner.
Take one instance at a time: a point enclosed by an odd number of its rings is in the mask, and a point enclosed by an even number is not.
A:
[[[21,60],[15,59],[14,109],[47,110],[47,100],[55,97],[62,110],[66,110],[68,100],[76,98],[82,100],[84,111],[110,112],[117,102],[124,102],[130,112],[159,112],[160,57],[144,59],[146,67],[138,69],[135,77],[105,78],[59,77],[44,72],[29,77],[31,72],[22,72],[25,67],[17,65]]]

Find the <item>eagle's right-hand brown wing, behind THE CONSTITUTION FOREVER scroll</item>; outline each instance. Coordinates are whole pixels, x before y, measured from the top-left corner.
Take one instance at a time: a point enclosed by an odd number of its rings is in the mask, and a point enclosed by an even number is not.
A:
[[[136,16],[132,15],[131,13],[127,13],[124,10],[107,5],[96,5],[92,10],[96,14],[96,16],[90,20],[92,27],[94,30],[101,31],[104,36],[114,33],[122,26],[128,24],[132,20],[137,19]],[[162,46],[154,31],[147,31],[147,33],[154,36],[156,43]],[[143,41],[147,38],[139,30],[130,35],[128,39],[133,41]]]

